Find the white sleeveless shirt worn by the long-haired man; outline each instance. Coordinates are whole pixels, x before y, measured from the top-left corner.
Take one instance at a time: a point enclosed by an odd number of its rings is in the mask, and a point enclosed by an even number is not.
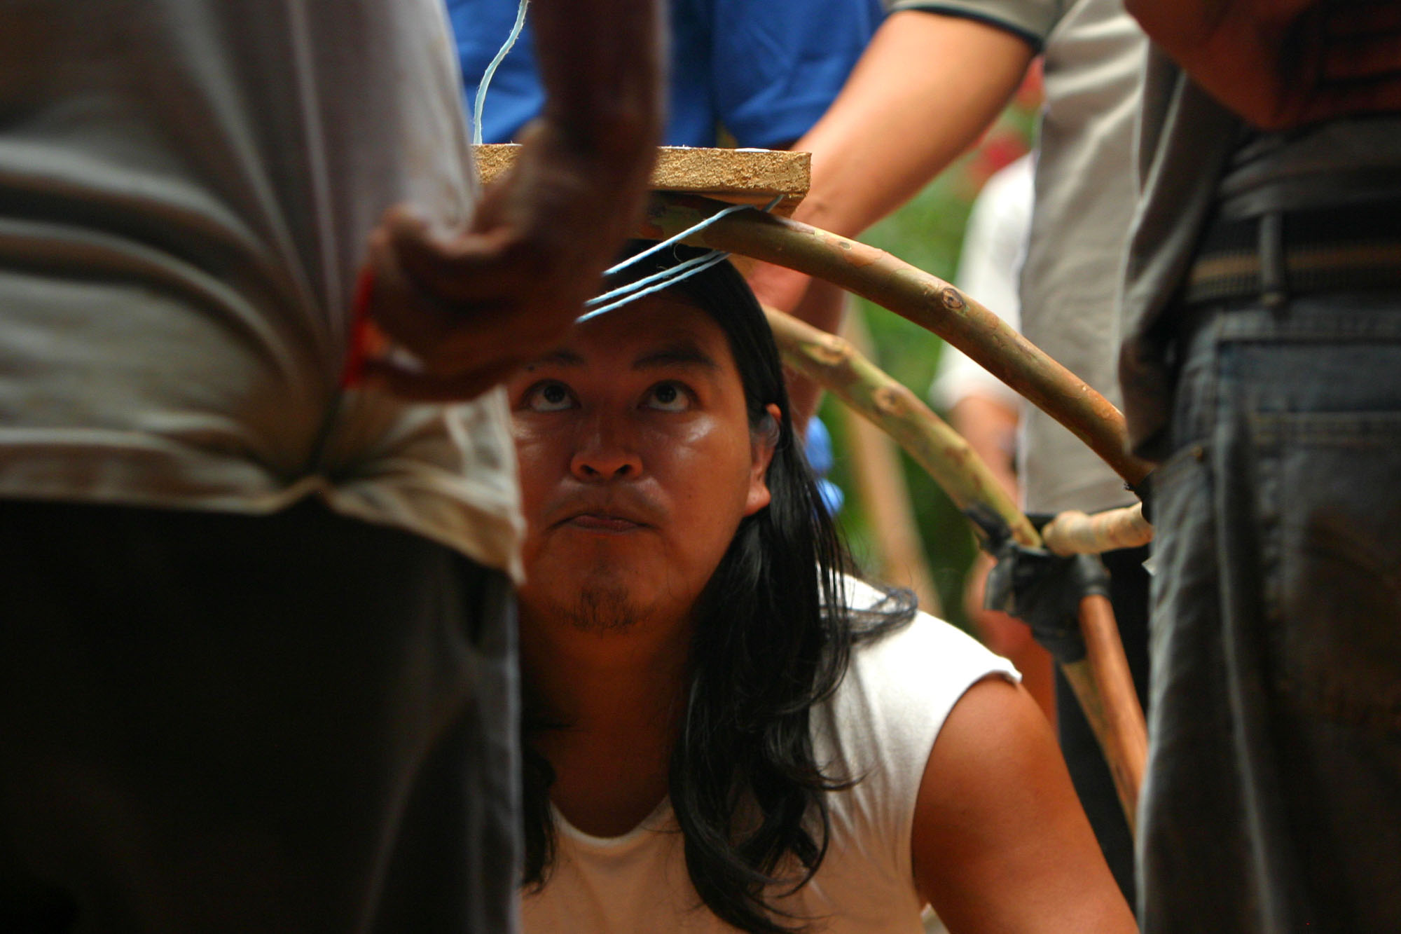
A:
[[[856,585],[855,600],[874,600]],[[836,693],[813,710],[813,749],[828,774],[860,777],[828,794],[831,840],[813,881],[780,899],[822,919],[829,934],[923,931],[911,827],[939,729],[975,682],[1019,677],[967,634],[920,613],[908,627],[852,652]],[[527,934],[653,934],[733,930],[705,909],[686,875],[668,801],[621,837],[572,827],[559,811],[552,875],[523,900]]]

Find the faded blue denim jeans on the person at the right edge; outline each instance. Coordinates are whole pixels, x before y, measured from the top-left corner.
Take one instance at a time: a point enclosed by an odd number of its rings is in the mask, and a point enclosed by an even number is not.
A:
[[[1202,313],[1173,418],[1143,930],[1401,931],[1401,293]]]

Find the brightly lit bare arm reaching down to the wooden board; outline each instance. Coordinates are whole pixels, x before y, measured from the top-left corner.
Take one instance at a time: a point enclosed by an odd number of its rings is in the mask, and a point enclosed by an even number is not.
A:
[[[892,14],[846,87],[794,149],[813,187],[794,217],[853,237],[915,195],[996,119],[1031,62],[1005,29]]]

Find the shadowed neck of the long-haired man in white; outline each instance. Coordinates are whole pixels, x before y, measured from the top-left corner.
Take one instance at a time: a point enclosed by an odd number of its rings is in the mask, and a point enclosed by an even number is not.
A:
[[[548,726],[528,742],[551,798],[580,830],[619,836],[657,806],[684,710],[689,621],[586,631],[521,607],[525,696]]]

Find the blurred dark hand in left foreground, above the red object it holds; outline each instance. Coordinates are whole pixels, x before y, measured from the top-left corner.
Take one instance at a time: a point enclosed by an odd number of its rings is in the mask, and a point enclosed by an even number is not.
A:
[[[412,360],[373,358],[366,379],[409,398],[468,400],[559,344],[636,229],[650,151],[593,151],[539,121],[469,229],[389,209],[370,236],[368,311]]]

